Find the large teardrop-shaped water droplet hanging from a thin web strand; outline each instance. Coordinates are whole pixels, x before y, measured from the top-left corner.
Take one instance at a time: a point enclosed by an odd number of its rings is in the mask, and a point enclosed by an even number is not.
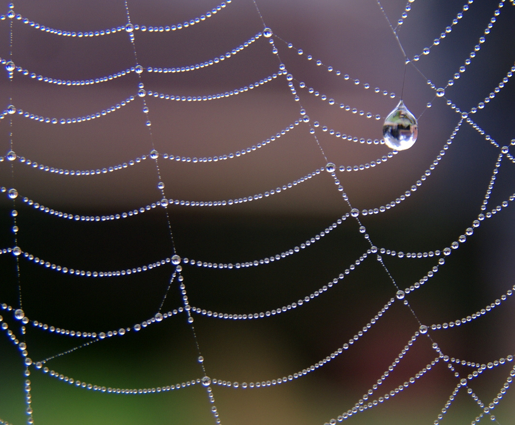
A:
[[[385,144],[390,149],[402,151],[414,145],[418,135],[418,123],[401,100],[391,111],[383,125]]]

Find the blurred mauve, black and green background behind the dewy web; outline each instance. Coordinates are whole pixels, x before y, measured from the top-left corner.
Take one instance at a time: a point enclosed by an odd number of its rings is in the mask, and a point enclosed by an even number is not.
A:
[[[354,143],[322,131],[322,126],[366,139],[380,139],[384,118],[403,91],[408,109],[418,118],[419,137],[407,151],[386,163],[357,172],[337,172],[353,207],[379,208],[410,190],[451,136],[459,116],[445,102],[451,99],[469,111],[493,91],[515,60],[515,7],[505,2],[491,32],[484,30],[498,2],[475,2],[463,12],[463,1],[408,3],[411,10],[398,28],[408,58],[406,67],[397,40],[381,7],[374,1],[256,0],[264,23],[273,31],[216,65],[185,73],[135,73],[92,85],[63,86],[30,78],[30,73],[61,80],[95,79],[136,64],[128,33],[72,38],[44,32],[22,20],[0,21],[0,57],[12,59],[29,75],[5,72],[0,79],[2,110],[9,104],[44,117],[79,117],[106,110],[130,96],[138,84],[145,90],[175,96],[225,93],[278,72],[285,64],[294,76],[300,103],[284,76],[228,98],[182,102],[145,97],[148,118],[138,96],[126,107],[95,120],[69,125],[37,122],[19,114],[0,121],[0,186],[14,187],[19,197],[0,198],[0,248],[14,246],[10,211],[18,210],[18,245],[51,263],[83,270],[120,270],[169,257],[174,246],[181,257],[207,262],[252,261],[293,249],[349,212],[349,205],[325,171],[305,183],[259,201],[232,206],[170,205],[125,220],[85,222],[58,219],[23,202],[74,215],[102,216],[138,209],[161,198],[156,162],[112,173],[63,176],[7,161],[12,147],[20,157],[68,170],[102,169],[147,155],[152,144],[167,198],[190,201],[238,199],[294,182],[325,166],[327,161],[310,128],[319,121],[316,137],[327,160],[341,166],[377,161],[384,145]],[[406,2],[381,2],[397,26]],[[190,21],[216,6],[194,2],[127,2],[133,24],[171,26]],[[8,12],[8,2],[0,2]],[[122,1],[74,0],[14,3],[14,11],[30,21],[67,31],[95,31],[124,26]],[[464,16],[433,46],[457,13]],[[10,24],[12,23],[12,47]],[[219,57],[263,30],[251,0],[233,0],[209,19],[177,31],[134,31],[138,63],[151,67],[182,67]],[[465,73],[435,97],[427,84],[444,87],[464,65],[480,37],[485,43]],[[278,49],[272,54],[270,40]],[[294,48],[289,48],[288,43]],[[430,55],[423,56],[425,47]],[[12,49],[12,57],[9,52]],[[298,55],[302,49],[304,54]],[[312,55],[313,60],[308,60]],[[316,61],[322,61],[318,66]],[[334,70],[328,72],[327,66]],[[337,76],[335,70],[340,70]],[[350,76],[349,80],[344,75]],[[359,84],[354,83],[359,79]],[[305,82],[316,97],[300,88]],[[404,83],[403,83],[404,81]],[[364,88],[364,84],[370,88]],[[402,88],[404,84],[404,89]],[[374,92],[380,87],[381,92]],[[393,98],[390,96],[393,93]],[[331,105],[321,100],[334,99]],[[10,100],[12,99],[12,100]],[[515,136],[513,82],[509,81],[484,109],[471,115],[500,146]],[[427,108],[427,103],[432,104]],[[370,112],[353,114],[345,103]],[[241,157],[209,163],[163,158],[211,157],[242,151],[276,135],[300,117],[300,104],[310,117],[272,143]],[[375,115],[381,119],[376,120]],[[145,125],[151,121],[151,134]],[[12,136],[10,134],[12,133]],[[510,147],[512,151],[513,147]],[[442,250],[457,240],[481,212],[485,192],[500,150],[464,123],[431,177],[404,202],[384,214],[361,216],[372,243],[397,252]],[[514,192],[513,164],[506,162],[491,193],[489,209]],[[482,222],[474,235],[446,259],[422,288],[406,296],[418,320],[426,325],[455,321],[485,308],[513,285],[513,209],[504,208]],[[173,242],[170,239],[169,219]],[[327,285],[363,255],[369,244],[354,219],[298,254],[261,267],[239,270],[196,268],[183,264],[190,304],[233,314],[277,309]],[[437,264],[436,258],[408,259],[384,255],[391,277],[404,289]],[[31,320],[56,327],[101,332],[131,327],[158,312],[173,269],[166,264],[124,277],[87,278],[56,273],[19,258],[0,256],[0,303],[23,310]],[[182,305],[178,282],[171,285],[162,311]],[[20,288],[20,289],[19,289]],[[369,256],[327,293],[287,313],[252,321],[227,321],[194,314],[197,342],[211,378],[256,382],[293,375],[324,359],[352,339],[394,297],[397,289],[381,264]],[[513,354],[513,300],[478,320],[447,330],[430,330],[432,341],[450,357],[476,363]],[[2,311],[4,322],[20,336],[20,322]],[[337,359],[301,379],[282,385],[243,390],[213,385],[215,405],[225,424],[322,424],[347,412],[380,379],[419,327],[409,309],[397,301],[380,321]],[[421,335],[373,398],[384,396],[414,376],[436,357],[432,341]],[[40,361],[81,345],[83,339],[27,327],[29,357]],[[60,374],[99,386],[151,388],[202,376],[197,347],[186,316],[179,314],[141,332],[113,337],[46,363]],[[470,384],[490,403],[503,386],[512,363],[488,369]],[[473,368],[456,370],[466,376]],[[77,388],[31,367],[33,419],[37,424],[214,423],[205,388],[195,385],[161,394],[115,395]],[[3,332],[0,338],[0,419],[20,424],[25,413],[24,365],[20,350]],[[444,362],[404,392],[348,419],[353,423],[433,423],[459,378]],[[499,423],[515,416],[513,394],[496,406]],[[469,423],[481,413],[461,389],[441,423]],[[485,417],[484,420],[488,420]]]

